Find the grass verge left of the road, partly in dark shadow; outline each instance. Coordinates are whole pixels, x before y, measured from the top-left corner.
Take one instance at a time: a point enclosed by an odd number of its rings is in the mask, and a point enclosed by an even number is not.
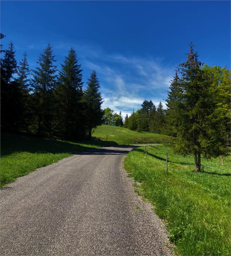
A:
[[[116,145],[99,140],[71,142],[48,140],[28,135],[1,134],[0,186],[13,182],[37,168],[91,148]]]

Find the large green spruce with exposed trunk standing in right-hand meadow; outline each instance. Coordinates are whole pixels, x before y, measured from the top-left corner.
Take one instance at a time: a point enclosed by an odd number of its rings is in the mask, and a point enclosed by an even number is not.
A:
[[[187,58],[178,67],[178,83],[175,78],[175,88],[172,85],[168,92],[168,115],[172,117],[168,121],[176,135],[175,152],[193,154],[195,171],[200,172],[201,154],[210,158],[222,153],[223,127],[210,91],[212,81],[206,70],[201,69],[192,44]]]

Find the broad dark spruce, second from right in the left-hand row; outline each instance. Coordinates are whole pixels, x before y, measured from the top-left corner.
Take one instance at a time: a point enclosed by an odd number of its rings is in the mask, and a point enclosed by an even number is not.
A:
[[[73,48],[61,64],[58,87],[55,90],[55,133],[58,137],[79,140],[86,134],[81,65]]]

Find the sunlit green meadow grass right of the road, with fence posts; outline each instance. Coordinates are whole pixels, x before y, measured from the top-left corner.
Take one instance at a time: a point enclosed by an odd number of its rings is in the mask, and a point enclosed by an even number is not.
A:
[[[193,163],[192,156],[174,154],[168,146],[152,146],[147,158],[144,148],[132,150],[124,167],[135,191],[165,220],[176,253],[230,255],[230,165],[222,166],[220,157],[202,159],[204,172],[195,173]]]

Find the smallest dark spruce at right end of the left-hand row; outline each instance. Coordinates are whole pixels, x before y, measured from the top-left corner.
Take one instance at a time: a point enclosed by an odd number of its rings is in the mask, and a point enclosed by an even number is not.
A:
[[[91,139],[92,128],[97,125],[101,125],[103,120],[103,110],[101,109],[101,104],[103,99],[101,93],[99,92],[99,80],[97,78],[95,70],[91,73],[90,78],[87,82],[87,90],[85,91],[85,102],[86,102],[86,121],[88,129],[88,140]]]

